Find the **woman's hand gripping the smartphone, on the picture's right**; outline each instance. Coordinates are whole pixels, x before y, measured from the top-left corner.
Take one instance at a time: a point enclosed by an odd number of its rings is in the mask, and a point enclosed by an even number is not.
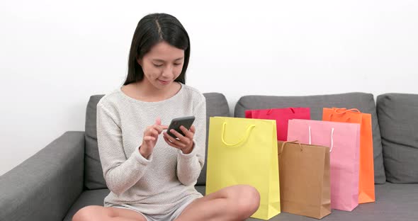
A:
[[[176,130],[171,129],[170,132],[179,139],[171,137],[170,135],[167,134],[167,132],[164,132],[163,133],[164,140],[171,147],[180,149],[181,152],[183,152],[183,154],[190,154],[191,151],[193,150],[193,137],[195,135],[196,129],[192,125],[190,130],[187,130],[183,126],[180,126],[180,130],[184,133],[184,136],[181,135]]]

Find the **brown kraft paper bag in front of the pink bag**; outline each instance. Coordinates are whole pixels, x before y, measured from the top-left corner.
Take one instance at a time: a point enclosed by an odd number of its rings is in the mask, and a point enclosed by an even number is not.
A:
[[[278,142],[281,211],[321,219],[331,213],[329,147]]]

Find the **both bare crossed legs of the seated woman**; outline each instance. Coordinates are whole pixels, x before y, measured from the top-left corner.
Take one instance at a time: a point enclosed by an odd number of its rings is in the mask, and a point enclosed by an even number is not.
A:
[[[259,203],[259,192],[254,187],[247,185],[229,186],[194,200],[181,212],[176,221],[242,221],[256,212]],[[139,212],[99,205],[89,205],[81,208],[72,217],[72,221],[96,220],[147,221]]]

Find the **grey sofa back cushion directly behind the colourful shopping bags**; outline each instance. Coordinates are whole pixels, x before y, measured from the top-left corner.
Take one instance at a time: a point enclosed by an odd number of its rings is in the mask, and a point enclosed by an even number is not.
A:
[[[235,106],[235,117],[244,118],[246,110],[264,108],[309,107],[312,120],[322,120],[322,108],[358,108],[371,113],[375,183],[385,183],[382,144],[373,94],[348,93],[317,96],[243,96]]]

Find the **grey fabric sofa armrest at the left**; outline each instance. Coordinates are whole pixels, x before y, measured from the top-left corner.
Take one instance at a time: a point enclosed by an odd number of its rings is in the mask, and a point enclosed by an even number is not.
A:
[[[0,220],[62,220],[83,183],[84,132],[65,132],[0,176]]]

